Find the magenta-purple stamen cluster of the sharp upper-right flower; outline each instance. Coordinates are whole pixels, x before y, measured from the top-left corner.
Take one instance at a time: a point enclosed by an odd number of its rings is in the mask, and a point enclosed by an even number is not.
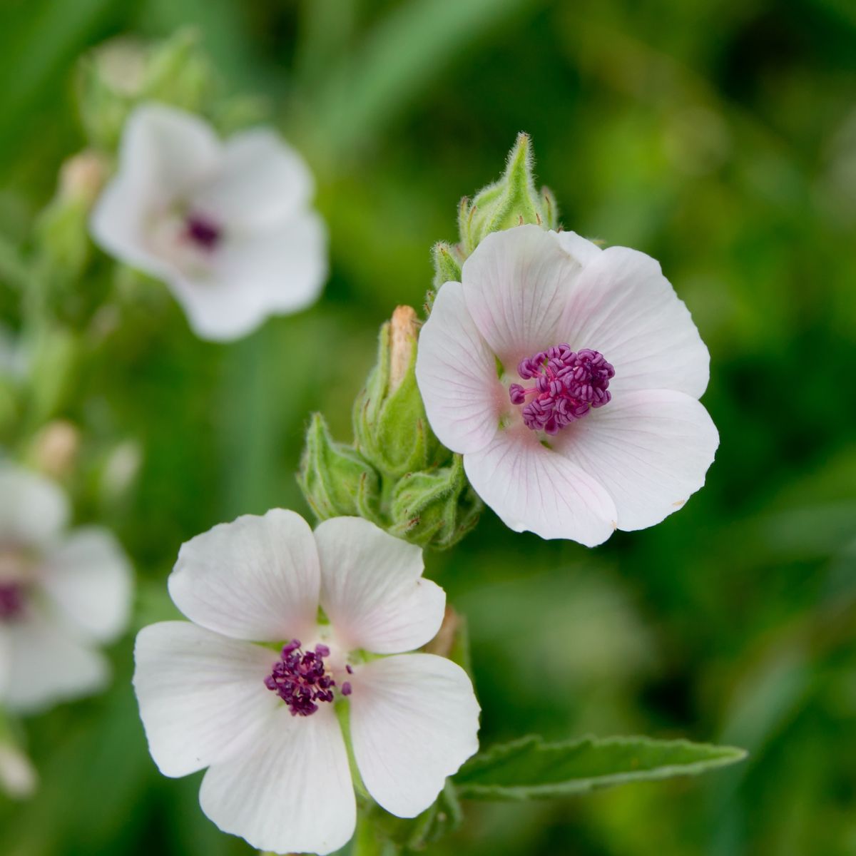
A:
[[[517,372],[535,381],[528,389],[520,383],[508,387],[511,403],[524,406],[523,422],[532,431],[556,434],[612,398],[607,388],[615,369],[603,354],[590,348],[572,351],[570,345],[554,345],[521,360]]]

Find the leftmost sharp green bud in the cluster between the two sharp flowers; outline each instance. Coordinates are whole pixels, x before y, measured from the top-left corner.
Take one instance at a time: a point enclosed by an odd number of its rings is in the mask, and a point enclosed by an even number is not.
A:
[[[359,452],[333,442],[320,413],[306,431],[297,482],[319,520],[355,515],[377,522],[377,473]]]

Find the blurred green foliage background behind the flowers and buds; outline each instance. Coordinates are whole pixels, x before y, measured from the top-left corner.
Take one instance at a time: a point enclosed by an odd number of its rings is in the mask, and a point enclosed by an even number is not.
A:
[[[722,445],[704,490],[645,532],[586,550],[486,512],[455,550],[427,556],[469,619],[483,746],[643,733],[751,756],[578,800],[469,804],[431,853],[856,853],[851,0],[0,5],[9,241],[26,239],[84,145],[81,51],[187,23],[227,91],[267,98],[330,226],[312,311],[217,346],[148,284],[61,414],[84,432],[78,517],[114,526],[138,569],[137,627],[168,612],[182,541],[273,506],[308,515],[293,474],[309,413],[350,438],[377,326],[420,305],[431,243],[454,239],[458,199],[499,175],[526,130],[565,226],[650,253],[686,300],[710,347],[704,404]],[[0,312],[20,322],[9,289]],[[140,449],[138,483],[94,500],[86,478],[116,438]],[[251,852],[202,816],[199,776],[158,775],[131,647],[129,635],[112,651],[110,693],[27,722],[42,786],[27,803],[0,798],[0,853]]]

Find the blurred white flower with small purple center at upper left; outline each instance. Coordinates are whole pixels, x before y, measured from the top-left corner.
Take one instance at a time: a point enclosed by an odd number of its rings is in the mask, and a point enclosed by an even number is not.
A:
[[[217,139],[198,116],[144,104],[128,118],[119,169],[92,235],[169,283],[198,336],[244,336],[320,293],[326,231],[312,175],[273,131]]]

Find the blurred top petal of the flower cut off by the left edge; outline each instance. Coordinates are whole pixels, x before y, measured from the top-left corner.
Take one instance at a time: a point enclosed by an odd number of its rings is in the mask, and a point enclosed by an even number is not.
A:
[[[0,542],[45,544],[68,520],[68,500],[56,484],[12,464],[0,464]]]

